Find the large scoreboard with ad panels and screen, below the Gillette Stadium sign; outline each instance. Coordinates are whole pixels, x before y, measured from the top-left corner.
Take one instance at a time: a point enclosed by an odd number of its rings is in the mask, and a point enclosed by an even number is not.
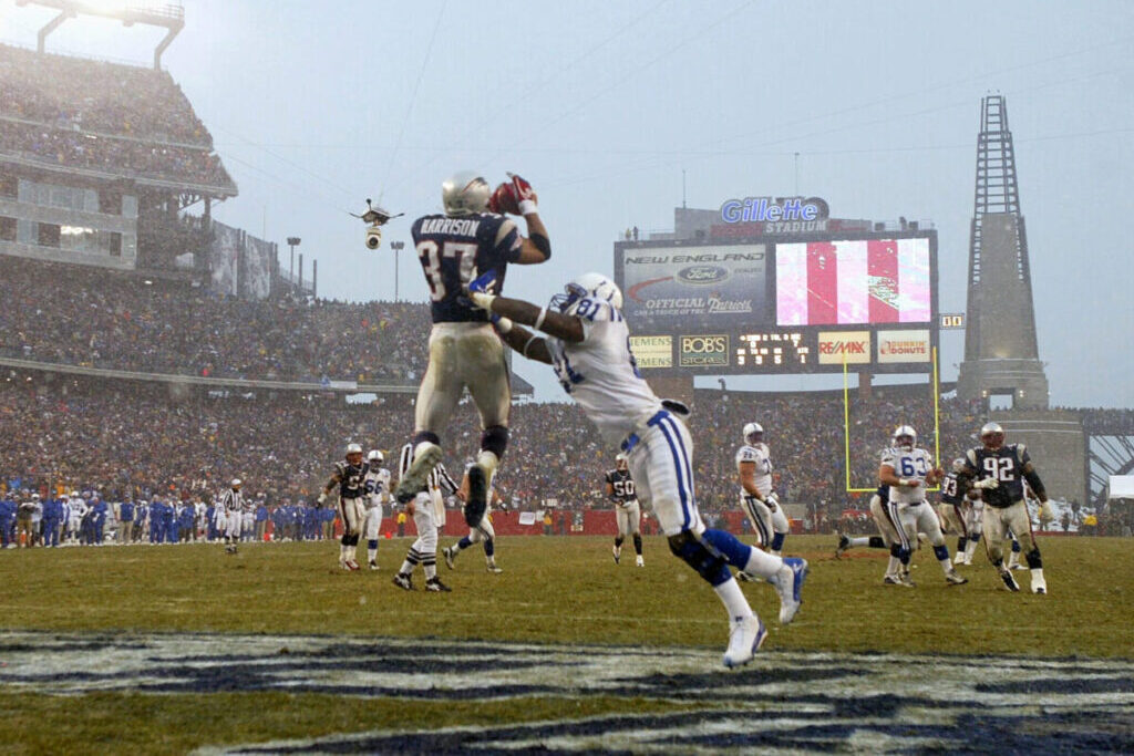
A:
[[[841,231],[616,243],[646,375],[926,373],[937,232]]]

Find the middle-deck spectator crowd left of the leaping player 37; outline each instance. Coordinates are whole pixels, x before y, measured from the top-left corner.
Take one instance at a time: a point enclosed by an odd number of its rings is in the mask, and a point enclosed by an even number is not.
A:
[[[66,279],[66,286],[60,281]],[[413,382],[426,305],[240,300],[183,281],[0,256],[0,355],[144,373]]]

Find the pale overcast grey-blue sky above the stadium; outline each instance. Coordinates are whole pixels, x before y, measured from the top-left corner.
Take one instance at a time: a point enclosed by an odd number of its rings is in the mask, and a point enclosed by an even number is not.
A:
[[[0,0],[0,40],[34,45],[52,16]],[[539,190],[555,256],[507,289],[535,301],[611,272],[627,227],[671,229],[684,170],[691,207],[798,192],[837,218],[931,219],[941,308],[960,312],[980,100],[1005,94],[1052,405],[1134,406],[1132,2],[186,0],[185,16],[163,62],[240,190],[215,218],[302,237],[320,294],[356,300],[393,298],[388,243],[455,170]],[[78,19],[48,46],[146,61],[161,36]],[[407,215],[379,252],[346,214],[367,196]],[[400,296],[424,301],[401,254]],[[962,341],[942,349],[951,380]]]

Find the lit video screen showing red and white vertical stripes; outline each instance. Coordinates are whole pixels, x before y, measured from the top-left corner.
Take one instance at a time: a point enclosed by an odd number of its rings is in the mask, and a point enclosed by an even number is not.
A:
[[[776,246],[779,325],[929,321],[929,239],[824,240]]]

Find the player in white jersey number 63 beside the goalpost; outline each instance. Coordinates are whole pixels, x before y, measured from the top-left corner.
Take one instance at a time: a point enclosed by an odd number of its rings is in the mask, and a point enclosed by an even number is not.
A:
[[[937,512],[925,501],[925,487],[936,485],[945,472],[933,467],[930,453],[916,445],[917,432],[911,426],[899,425],[894,431],[890,443],[891,447],[882,452],[882,462],[878,467],[878,482],[890,486],[887,512],[902,543],[898,553],[903,564],[902,581],[911,584],[907,575],[909,557],[917,543],[917,534],[924,533],[941,564],[946,583],[949,585],[968,583],[967,578],[962,577],[953,568],[949,547],[945,545]]]

